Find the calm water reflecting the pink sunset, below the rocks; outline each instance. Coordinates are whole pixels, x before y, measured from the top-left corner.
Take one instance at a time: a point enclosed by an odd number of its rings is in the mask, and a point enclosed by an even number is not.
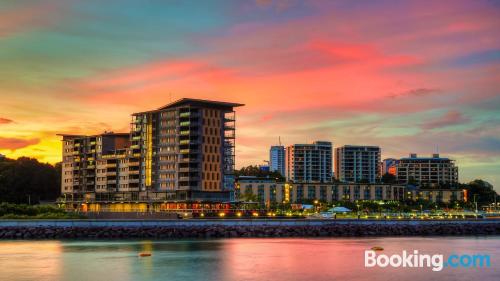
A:
[[[365,268],[384,247],[491,256],[491,268]],[[139,252],[151,257],[139,258]],[[199,241],[0,241],[0,280],[500,280],[500,237],[226,239]],[[496,271],[495,271],[496,269]]]

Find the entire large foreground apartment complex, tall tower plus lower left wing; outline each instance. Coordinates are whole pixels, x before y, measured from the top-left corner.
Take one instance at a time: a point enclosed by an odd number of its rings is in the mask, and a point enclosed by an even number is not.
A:
[[[138,191],[161,193],[165,200],[230,200],[233,108],[238,106],[242,104],[181,99],[134,113],[130,134],[117,135],[114,147],[104,135],[64,135],[62,192]],[[75,173],[74,167],[85,171]]]

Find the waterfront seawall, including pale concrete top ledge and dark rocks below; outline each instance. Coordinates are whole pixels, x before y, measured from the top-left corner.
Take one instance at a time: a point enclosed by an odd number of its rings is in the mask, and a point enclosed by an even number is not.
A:
[[[500,235],[500,220],[0,220],[0,239]]]

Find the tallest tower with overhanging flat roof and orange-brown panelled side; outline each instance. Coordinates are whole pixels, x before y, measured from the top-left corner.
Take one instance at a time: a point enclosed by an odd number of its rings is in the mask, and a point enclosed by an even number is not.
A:
[[[237,103],[181,99],[132,115],[141,189],[179,200],[229,200],[234,186]]]

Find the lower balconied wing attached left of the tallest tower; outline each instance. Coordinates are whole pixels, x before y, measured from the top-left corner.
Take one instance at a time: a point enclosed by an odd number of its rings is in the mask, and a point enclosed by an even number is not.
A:
[[[139,158],[130,154],[128,133],[62,137],[62,194],[139,191]]]

